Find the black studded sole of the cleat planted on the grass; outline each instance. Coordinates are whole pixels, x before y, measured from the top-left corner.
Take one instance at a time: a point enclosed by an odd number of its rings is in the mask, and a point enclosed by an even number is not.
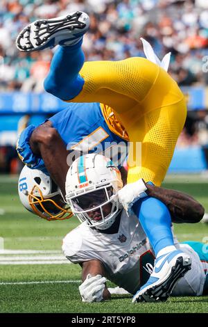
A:
[[[180,278],[184,277],[191,269],[191,259],[189,263],[184,263],[183,257],[178,257],[175,266],[172,267],[171,273],[164,280],[164,282],[159,285],[155,285],[147,289],[144,294],[138,296],[135,302],[164,302],[167,300],[168,296],[171,295],[173,287]]]

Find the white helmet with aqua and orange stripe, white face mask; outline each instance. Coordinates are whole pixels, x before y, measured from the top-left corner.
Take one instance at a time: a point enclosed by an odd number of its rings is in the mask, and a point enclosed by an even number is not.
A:
[[[106,230],[121,211],[118,191],[121,173],[101,154],[85,154],[73,161],[67,173],[66,200],[73,214],[90,227]]]

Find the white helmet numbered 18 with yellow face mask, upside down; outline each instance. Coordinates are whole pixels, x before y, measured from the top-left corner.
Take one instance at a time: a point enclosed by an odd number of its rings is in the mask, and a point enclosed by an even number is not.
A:
[[[24,207],[47,221],[73,216],[58,186],[41,170],[24,166],[19,175],[18,191]]]

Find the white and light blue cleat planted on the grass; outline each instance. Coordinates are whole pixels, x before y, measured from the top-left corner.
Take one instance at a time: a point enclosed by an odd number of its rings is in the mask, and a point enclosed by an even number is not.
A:
[[[166,301],[177,281],[190,269],[191,257],[180,250],[158,257],[153,273],[135,294],[132,303]]]

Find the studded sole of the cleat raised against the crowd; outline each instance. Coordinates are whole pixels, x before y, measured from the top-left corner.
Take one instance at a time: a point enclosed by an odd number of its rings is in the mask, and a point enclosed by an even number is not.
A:
[[[71,15],[67,15],[63,18],[57,19],[39,19],[26,26],[17,36],[16,46],[20,51],[28,52],[42,49],[55,35],[60,31],[74,31],[75,29],[83,30],[87,27],[87,24],[80,22],[79,18],[83,15],[82,12],[77,11]],[[31,42],[31,26],[35,26],[35,36],[32,38],[35,40],[35,44]],[[85,31],[84,31],[85,33]],[[80,38],[84,33],[73,35],[71,40]],[[21,41],[24,41],[24,45],[21,45]],[[50,47],[50,45],[49,45]],[[53,45],[52,45],[53,47]]]

